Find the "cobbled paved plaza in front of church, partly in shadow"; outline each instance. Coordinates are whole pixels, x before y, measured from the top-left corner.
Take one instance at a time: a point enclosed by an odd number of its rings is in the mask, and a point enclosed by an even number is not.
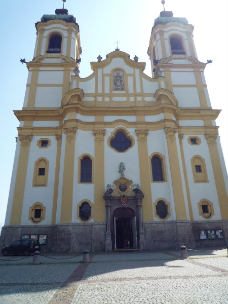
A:
[[[177,250],[93,252],[90,263],[45,255],[39,265],[1,256],[1,304],[228,303],[227,250],[188,251],[186,260]]]

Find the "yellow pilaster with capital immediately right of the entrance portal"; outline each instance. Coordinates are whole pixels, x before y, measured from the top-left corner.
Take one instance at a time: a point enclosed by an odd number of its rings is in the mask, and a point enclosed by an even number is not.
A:
[[[153,204],[151,195],[151,184],[148,163],[148,149],[147,149],[147,134],[149,130],[135,130],[138,138],[138,154],[139,154],[139,169],[140,169],[140,183],[141,190],[144,194],[142,199],[143,220],[153,221]]]

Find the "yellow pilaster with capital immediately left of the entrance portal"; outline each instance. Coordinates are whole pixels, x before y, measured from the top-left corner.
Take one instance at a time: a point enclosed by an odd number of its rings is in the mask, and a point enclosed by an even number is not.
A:
[[[95,136],[94,222],[105,222],[104,208],[104,135],[106,130],[93,130]]]

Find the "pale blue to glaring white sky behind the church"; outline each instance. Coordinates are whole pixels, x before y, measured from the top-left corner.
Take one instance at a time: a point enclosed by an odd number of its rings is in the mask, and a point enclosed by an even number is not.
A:
[[[8,0],[2,1],[0,9],[0,229],[4,225],[11,174],[15,154],[15,137],[19,122],[13,110],[22,109],[27,68],[20,58],[33,58],[36,30],[34,23],[44,14],[55,14],[62,8],[61,0]],[[151,28],[154,20],[163,10],[161,0],[67,0],[65,8],[76,17],[80,26],[82,62],[80,77],[88,77],[92,70],[91,61],[103,59],[106,54],[119,48],[139,61],[146,62],[145,73],[151,77],[150,61],[147,55]],[[214,109],[222,109],[216,123],[223,154],[228,166],[228,102],[224,86],[227,76],[227,11],[228,2],[208,0],[166,0],[166,11],[174,17],[186,17],[195,26],[194,41],[198,59],[202,62],[212,59],[205,69],[208,91]],[[4,174],[3,174],[4,172]]]

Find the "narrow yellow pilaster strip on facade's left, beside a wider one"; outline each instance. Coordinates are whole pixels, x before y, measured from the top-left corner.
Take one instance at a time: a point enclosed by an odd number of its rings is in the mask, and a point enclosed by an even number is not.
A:
[[[55,137],[57,140],[57,153],[56,153],[56,164],[55,164],[54,196],[53,196],[53,206],[52,206],[52,225],[54,225],[56,221],[62,134],[61,135],[56,134]]]

